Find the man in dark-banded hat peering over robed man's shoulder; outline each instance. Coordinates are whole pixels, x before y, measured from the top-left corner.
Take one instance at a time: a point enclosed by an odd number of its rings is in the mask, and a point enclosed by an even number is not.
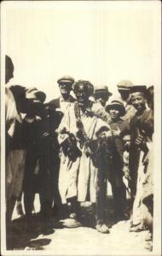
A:
[[[108,90],[108,87],[106,85],[101,86],[95,89],[95,102],[92,105],[92,111],[107,123],[110,121],[110,115],[106,112],[105,106],[110,96],[112,96],[112,93]]]

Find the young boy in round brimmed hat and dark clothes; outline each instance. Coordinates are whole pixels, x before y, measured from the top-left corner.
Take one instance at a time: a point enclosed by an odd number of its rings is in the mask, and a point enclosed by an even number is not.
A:
[[[106,110],[110,113],[111,122],[109,123],[112,131],[111,153],[112,163],[110,167],[110,183],[112,185],[115,220],[124,219],[126,203],[126,190],[123,182],[124,168],[124,141],[123,137],[130,134],[128,121],[122,120],[125,109],[122,102],[113,101],[107,105]]]

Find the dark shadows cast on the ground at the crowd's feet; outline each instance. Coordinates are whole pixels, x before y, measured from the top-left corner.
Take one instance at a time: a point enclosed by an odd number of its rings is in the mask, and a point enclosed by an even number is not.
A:
[[[111,227],[115,224],[114,214],[113,214],[113,199],[111,196],[107,198],[106,205],[106,216],[107,216],[107,226]],[[95,209],[88,203],[84,203],[81,206],[82,224],[85,227],[90,227],[95,229]],[[55,222],[54,222],[55,223]],[[45,236],[41,239],[37,237],[42,233],[42,221],[40,219],[39,213],[33,214],[32,224],[26,223],[24,217],[15,218],[11,224],[11,229],[7,232],[7,249],[8,250],[42,250],[43,246],[48,245],[51,239]],[[53,233],[55,229],[60,228],[53,225]],[[62,228],[62,226],[61,226]],[[54,234],[55,236],[55,234]]]

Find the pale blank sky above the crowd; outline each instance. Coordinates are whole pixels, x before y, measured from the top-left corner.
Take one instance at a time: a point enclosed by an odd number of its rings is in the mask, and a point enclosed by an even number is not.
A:
[[[160,86],[160,2],[3,2],[3,53],[10,84],[38,87],[47,101],[68,74],[95,86],[130,79]]]

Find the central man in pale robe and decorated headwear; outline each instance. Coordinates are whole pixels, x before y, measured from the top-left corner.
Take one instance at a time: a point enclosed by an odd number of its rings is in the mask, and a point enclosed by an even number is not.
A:
[[[99,152],[99,141],[103,139],[102,143],[105,140],[104,145],[107,145],[109,126],[91,111],[89,97],[93,93],[93,85],[89,81],[78,80],[73,87],[77,102],[65,113],[59,127],[61,200],[65,204],[71,202],[71,227],[79,224],[78,202],[90,201],[95,205],[95,229],[109,233],[104,216],[107,179],[102,179],[102,184],[100,179],[101,172],[106,169],[105,165],[103,167],[106,150],[101,147]]]

